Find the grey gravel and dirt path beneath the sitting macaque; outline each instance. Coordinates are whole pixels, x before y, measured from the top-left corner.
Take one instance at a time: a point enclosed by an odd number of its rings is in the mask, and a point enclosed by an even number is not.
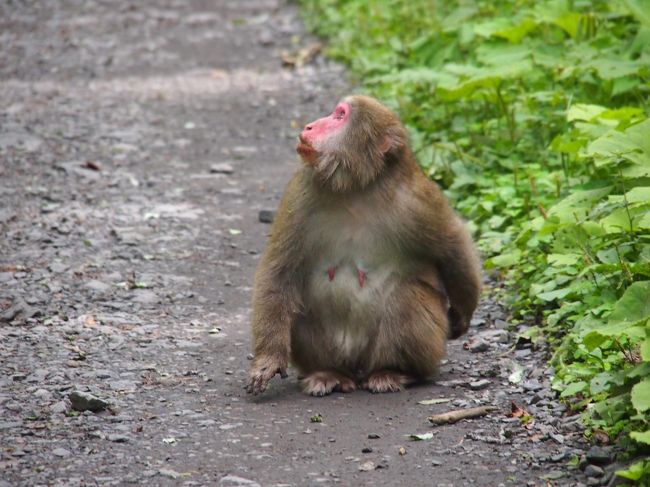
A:
[[[279,0],[0,5],[0,486],[580,485],[577,418],[491,303],[435,384],[244,394],[258,213],[349,90],[321,58],[282,67],[310,42]]]

